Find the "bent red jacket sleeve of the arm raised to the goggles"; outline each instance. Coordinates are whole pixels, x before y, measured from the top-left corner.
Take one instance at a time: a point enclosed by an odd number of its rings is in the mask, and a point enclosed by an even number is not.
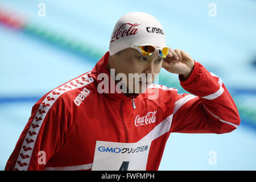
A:
[[[218,76],[195,61],[188,79],[182,78],[181,86],[191,94],[176,94],[171,133],[222,134],[240,125],[236,104]]]

